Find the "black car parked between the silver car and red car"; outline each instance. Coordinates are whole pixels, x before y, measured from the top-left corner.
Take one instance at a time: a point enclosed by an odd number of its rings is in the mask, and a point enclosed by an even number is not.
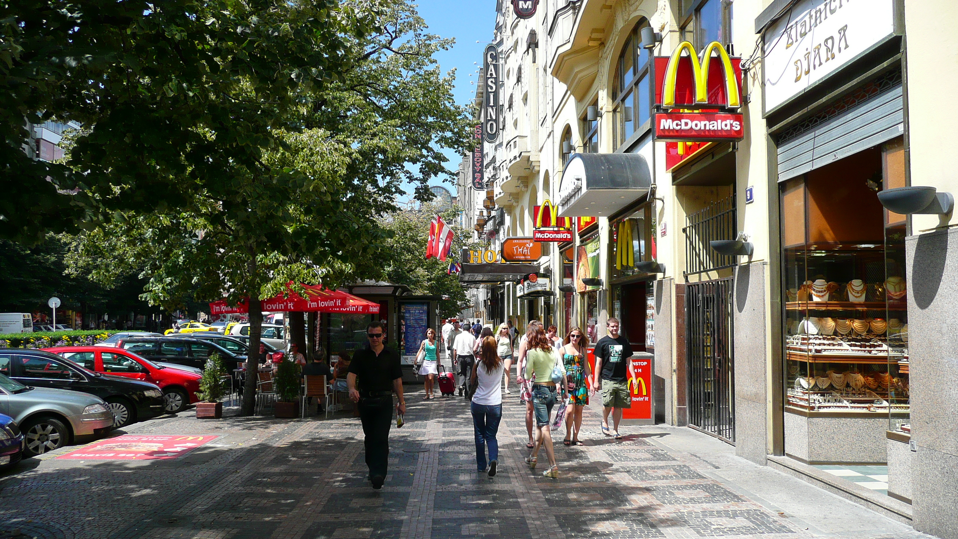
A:
[[[28,387],[82,391],[100,397],[113,411],[117,429],[166,413],[156,384],[88,370],[42,350],[0,348],[0,373]]]

